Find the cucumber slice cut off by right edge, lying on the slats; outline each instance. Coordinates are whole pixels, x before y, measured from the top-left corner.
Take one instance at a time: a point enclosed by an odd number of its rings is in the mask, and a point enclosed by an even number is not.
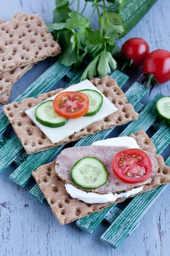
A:
[[[161,119],[170,122],[170,96],[165,96],[156,102],[156,110]]]

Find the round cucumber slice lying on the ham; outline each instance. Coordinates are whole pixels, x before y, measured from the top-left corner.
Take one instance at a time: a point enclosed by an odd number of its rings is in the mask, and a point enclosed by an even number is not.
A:
[[[83,189],[97,189],[108,180],[108,171],[96,157],[83,157],[72,167],[71,179]]]

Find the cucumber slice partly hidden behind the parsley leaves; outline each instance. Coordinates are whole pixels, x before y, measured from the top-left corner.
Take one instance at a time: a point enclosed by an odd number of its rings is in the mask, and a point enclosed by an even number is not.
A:
[[[101,17],[101,20],[102,20],[103,14],[100,15],[100,17]],[[109,17],[109,20],[110,20],[111,24],[113,24],[113,25],[122,25],[123,26],[124,32],[122,32],[122,34],[119,35],[119,38],[123,37],[126,34],[126,26],[125,26],[125,23],[122,20],[122,18],[119,16],[119,14],[117,12],[114,12],[114,11],[108,11],[108,17]],[[104,25],[103,25],[103,31],[104,32],[106,32],[106,30],[107,30],[107,25],[108,25],[108,21],[107,21],[107,18],[105,18],[105,22],[104,22]]]

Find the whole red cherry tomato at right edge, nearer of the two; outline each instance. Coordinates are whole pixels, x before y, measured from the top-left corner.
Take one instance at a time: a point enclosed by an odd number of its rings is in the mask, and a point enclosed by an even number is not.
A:
[[[159,49],[150,52],[144,60],[142,73],[153,74],[159,84],[170,80],[170,52]]]

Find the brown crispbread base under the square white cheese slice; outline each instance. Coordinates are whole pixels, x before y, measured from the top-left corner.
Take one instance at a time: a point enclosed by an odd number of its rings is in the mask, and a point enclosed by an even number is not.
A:
[[[99,131],[110,129],[117,125],[122,125],[137,119],[138,113],[136,113],[133,106],[127,102],[125,94],[114,79],[111,79],[110,76],[106,76],[105,78],[91,79],[91,82],[116,106],[116,108],[118,108],[118,111],[56,144],[51,143],[51,141],[42,133],[40,128],[38,128],[26,115],[25,111],[59,93],[62,89],[43,93],[36,99],[23,99],[19,104],[12,103],[3,107],[9,122],[11,122],[14,131],[28,154],[44,151],[71,141],[79,140],[88,135],[96,134]]]

